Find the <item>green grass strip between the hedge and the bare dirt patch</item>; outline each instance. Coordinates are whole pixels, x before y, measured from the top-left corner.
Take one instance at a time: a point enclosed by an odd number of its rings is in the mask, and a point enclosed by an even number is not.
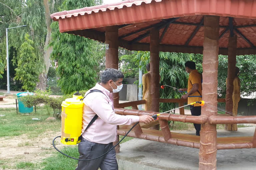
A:
[[[0,109],[0,137],[4,136],[19,136],[22,134],[28,135],[29,138],[36,138],[39,134],[47,131],[57,132],[61,128],[61,121],[45,121],[48,117],[46,108],[38,108],[37,113],[31,114],[16,114],[16,109]],[[32,118],[39,118],[41,120],[35,121]]]

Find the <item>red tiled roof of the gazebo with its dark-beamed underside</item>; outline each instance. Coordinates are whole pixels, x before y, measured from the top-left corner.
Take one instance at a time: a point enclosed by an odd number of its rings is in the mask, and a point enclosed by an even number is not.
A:
[[[196,4],[196,5],[195,5]],[[254,8],[255,7],[255,8]],[[256,54],[256,3],[230,0],[128,0],[54,13],[60,31],[105,42],[105,26],[118,25],[119,46],[149,51],[150,29],[160,32],[160,51],[202,53],[203,15],[220,17],[219,54],[227,54],[230,34],[237,55]]]

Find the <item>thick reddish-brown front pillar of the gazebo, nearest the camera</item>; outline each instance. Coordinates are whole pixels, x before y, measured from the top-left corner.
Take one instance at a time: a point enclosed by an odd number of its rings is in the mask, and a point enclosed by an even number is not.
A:
[[[219,16],[204,16],[203,44],[203,100],[201,115],[210,117],[217,115],[217,109],[207,107],[207,104],[217,107],[218,85],[218,52],[219,52]],[[209,122],[201,125],[199,170],[216,169],[217,154],[216,125]]]

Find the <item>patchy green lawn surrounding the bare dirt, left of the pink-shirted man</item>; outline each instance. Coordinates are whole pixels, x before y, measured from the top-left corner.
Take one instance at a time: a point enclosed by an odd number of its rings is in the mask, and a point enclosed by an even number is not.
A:
[[[35,145],[34,142],[38,141],[38,138],[42,134],[51,131],[51,133],[58,133],[61,129],[61,120],[46,121],[48,117],[52,115],[48,114],[46,107],[37,107],[37,113],[32,112],[30,114],[16,114],[16,108],[2,109],[0,108],[0,114],[5,115],[0,117],[0,139],[9,139],[10,141],[15,137],[21,137],[20,142],[16,145],[18,148],[29,148]],[[35,121],[32,118],[40,118],[41,120]],[[123,136],[120,136],[120,139]],[[27,138],[29,140],[22,140]],[[126,137],[121,142],[131,140],[132,137]],[[57,138],[56,140],[59,140]],[[51,141],[49,141],[51,142]],[[60,142],[59,142],[60,143]],[[50,144],[49,144],[50,145]],[[58,145],[60,146],[60,145]],[[58,147],[57,146],[57,147]],[[0,145],[0,147],[8,147],[7,145]],[[44,150],[40,155],[52,155],[47,156],[39,162],[30,160],[16,159],[14,163],[10,159],[0,158],[0,170],[2,169],[25,169],[25,170],[71,170],[77,166],[77,160],[70,159],[53,148],[42,147]],[[79,157],[78,145],[65,146],[60,149],[62,152],[76,157]],[[17,157],[19,158],[19,157]]]

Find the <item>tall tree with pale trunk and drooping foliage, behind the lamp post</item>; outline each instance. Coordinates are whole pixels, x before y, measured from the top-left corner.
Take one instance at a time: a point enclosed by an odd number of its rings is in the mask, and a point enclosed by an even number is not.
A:
[[[21,44],[25,41],[24,35],[29,33],[30,38],[35,43],[34,48],[36,55],[44,58],[41,60],[41,64],[38,67],[42,73],[40,75],[40,82],[38,83],[38,88],[40,89],[46,88],[47,72],[51,64],[50,53],[52,49],[51,47],[48,48],[51,38],[50,24],[52,22],[50,14],[56,12],[63,1],[64,0],[4,0],[0,3],[0,6],[4,7],[4,11],[0,11],[0,17],[4,20],[6,28],[15,27],[17,25],[28,25],[28,27],[23,27],[22,29],[11,29],[8,31],[10,48],[13,46],[14,50],[18,51]],[[0,38],[3,37],[3,35],[4,34],[0,32]],[[19,55],[13,56],[14,64],[16,64],[18,60]]]

